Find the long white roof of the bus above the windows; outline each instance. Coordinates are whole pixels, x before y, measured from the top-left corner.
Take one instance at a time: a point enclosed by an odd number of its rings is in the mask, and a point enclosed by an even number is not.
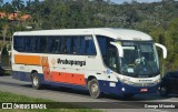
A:
[[[152,38],[144,32],[118,29],[118,28],[91,28],[91,29],[60,29],[60,30],[39,30],[39,31],[21,31],[14,32],[13,35],[106,35],[117,40],[152,40]]]

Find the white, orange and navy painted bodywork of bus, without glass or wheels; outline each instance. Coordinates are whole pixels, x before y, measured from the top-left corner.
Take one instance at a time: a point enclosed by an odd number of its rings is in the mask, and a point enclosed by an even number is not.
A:
[[[134,86],[120,82],[118,78],[123,79],[127,77],[118,74],[105,65],[96,34],[103,34],[113,39],[122,40],[135,40],[135,38],[141,39],[140,41],[152,40],[149,35],[142,32],[122,29],[70,29],[16,32],[13,37],[92,35],[97,54],[78,55],[18,52],[13,49],[12,43],[12,78],[30,82],[31,72],[37,71],[40,78],[40,83],[42,84],[88,90],[88,79],[90,77],[93,77],[98,80],[101,92],[105,93],[115,93],[118,95],[122,95],[125,93],[144,93],[140,92],[140,89],[148,89],[147,93],[157,91],[158,84],[154,84],[151,86]],[[158,79],[159,78],[152,78],[151,81]],[[135,80],[135,82],[139,82],[138,78],[131,80]],[[125,91],[122,90],[123,88]]]

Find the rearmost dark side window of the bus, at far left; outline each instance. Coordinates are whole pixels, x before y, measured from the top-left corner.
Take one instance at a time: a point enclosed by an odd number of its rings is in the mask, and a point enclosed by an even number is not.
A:
[[[23,37],[14,37],[13,49],[19,52],[23,52]]]

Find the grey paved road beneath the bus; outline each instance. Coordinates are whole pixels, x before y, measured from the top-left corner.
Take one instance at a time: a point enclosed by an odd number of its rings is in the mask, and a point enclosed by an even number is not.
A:
[[[100,99],[91,99],[87,91],[79,91],[73,89],[60,89],[48,86],[42,90],[33,90],[31,83],[22,82],[12,79],[11,77],[0,77],[0,91],[11,92],[22,95],[28,95],[32,98],[42,98],[57,102],[80,102],[75,103],[89,108],[98,108],[107,112],[177,112],[176,109],[139,109],[144,105],[149,104],[149,102],[178,102],[177,96],[161,98],[159,94],[145,94],[136,95],[131,100],[123,100],[122,98],[113,95],[103,95]],[[88,102],[88,103],[86,103]],[[140,103],[141,102],[141,103]],[[98,104],[98,105],[97,105]],[[152,103],[151,103],[152,104]],[[117,109],[119,106],[119,109]],[[108,109],[110,108],[110,109]],[[112,109],[115,108],[115,109]],[[122,109],[120,109],[122,108]]]

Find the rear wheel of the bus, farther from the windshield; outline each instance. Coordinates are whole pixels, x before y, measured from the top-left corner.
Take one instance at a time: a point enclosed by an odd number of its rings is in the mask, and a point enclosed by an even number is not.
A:
[[[32,88],[36,90],[41,89],[40,79],[38,73],[32,73]]]

